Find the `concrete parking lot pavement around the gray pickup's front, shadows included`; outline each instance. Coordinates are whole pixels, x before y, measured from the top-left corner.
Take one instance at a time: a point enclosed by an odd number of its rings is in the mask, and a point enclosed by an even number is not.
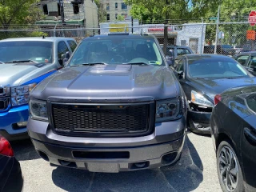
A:
[[[26,191],[221,191],[210,137],[188,133],[182,158],[174,166],[118,174],[89,173],[50,166],[30,140],[13,142]]]

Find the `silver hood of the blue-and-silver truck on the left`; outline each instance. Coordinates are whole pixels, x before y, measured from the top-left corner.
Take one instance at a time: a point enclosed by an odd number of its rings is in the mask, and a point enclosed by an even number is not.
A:
[[[42,63],[7,63],[0,64],[0,86],[19,86],[22,77],[38,67],[45,66]]]

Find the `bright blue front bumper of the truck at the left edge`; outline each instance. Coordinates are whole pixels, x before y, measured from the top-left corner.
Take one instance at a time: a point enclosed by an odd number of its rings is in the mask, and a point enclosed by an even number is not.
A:
[[[0,134],[8,140],[28,138],[26,127],[14,127],[17,122],[26,122],[29,117],[29,106],[17,106],[9,111],[0,112]]]

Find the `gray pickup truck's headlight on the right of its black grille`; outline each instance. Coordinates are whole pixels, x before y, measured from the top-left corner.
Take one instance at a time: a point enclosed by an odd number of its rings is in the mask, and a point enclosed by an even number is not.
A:
[[[182,108],[186,107],[183,100],[184,98],[177,98],[157,102],[155,121],[166,122],[181,118],[184,112]]]

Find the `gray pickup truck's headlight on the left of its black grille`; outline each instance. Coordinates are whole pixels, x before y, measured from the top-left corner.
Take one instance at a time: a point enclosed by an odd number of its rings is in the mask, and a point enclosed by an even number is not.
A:
[[[30,117],[48,121],[46,102],[30,99]]]

